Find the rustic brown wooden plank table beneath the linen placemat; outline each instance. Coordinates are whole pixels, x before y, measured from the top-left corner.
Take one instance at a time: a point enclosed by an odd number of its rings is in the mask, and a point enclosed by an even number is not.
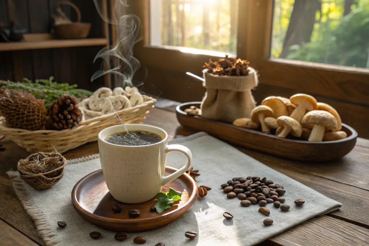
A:
[[[145,124],[165,129],[169,139],[194,132],[180,127],[170,109],[154,108]],[[0,152],[0,245],[44,245],[30,216],[24,211],[6,175],[15,170],[19,159],[29,153],[4,139]],[[369,245],[369,140],[358,142],[347,156],[329,163],[299,163],[253,150],[242,152],[287,176],[342,203],[342,208],[330,214],[312,218],[260,245]],[[97,142],[65,153],[67,159],[98,152]]]

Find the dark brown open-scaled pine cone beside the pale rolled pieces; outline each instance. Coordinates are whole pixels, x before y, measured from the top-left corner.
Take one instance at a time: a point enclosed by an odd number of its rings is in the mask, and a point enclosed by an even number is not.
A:
[[[49,107],[48,129],[63,130],[75,127],[82,120],[82,111],[77,107],[77,99],[67,94],[59,97]]]

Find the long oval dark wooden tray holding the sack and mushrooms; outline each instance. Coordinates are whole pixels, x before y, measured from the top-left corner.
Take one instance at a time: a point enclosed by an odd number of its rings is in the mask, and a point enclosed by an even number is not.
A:
[[[176,108],[177,119],[183,127],[207,132],[209,135],[233,145],[287,159],[318,162],[336,160],[347,155],[354,148],[358,137],[358,133],[352,127],[342,124],[342,131],[347,133],[345,139],[326,142],[284,139],[253,129],[187,115],[184,110],[192,105],[200,107],[200,102],[183,103]]]

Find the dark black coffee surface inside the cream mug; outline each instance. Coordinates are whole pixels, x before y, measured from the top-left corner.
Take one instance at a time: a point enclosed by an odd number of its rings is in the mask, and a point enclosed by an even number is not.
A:
[[[127,132],[118,132],[105,138],[105,141],[108,143],[125,146],[150,145],[162,140],[163,139],[158,134],[147,131],[130,131],[129,134],[127,134]]]

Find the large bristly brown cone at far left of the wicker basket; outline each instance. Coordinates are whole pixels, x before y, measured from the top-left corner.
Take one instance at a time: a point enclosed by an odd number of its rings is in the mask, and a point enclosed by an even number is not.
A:
[[[46,121],[44,100],[39,101],[27,91],[0,90],[0,115],[11,128],[42,129]]]

